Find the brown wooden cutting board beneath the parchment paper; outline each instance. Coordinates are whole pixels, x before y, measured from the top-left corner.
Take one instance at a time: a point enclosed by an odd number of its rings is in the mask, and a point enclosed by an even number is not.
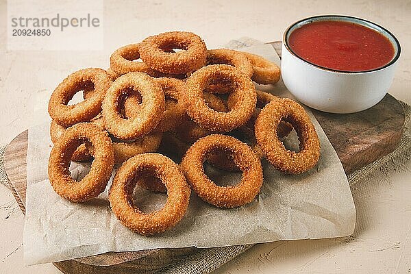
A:
[[[281,56],[281,42],[271,43]],[[329,114],[312,110],[336,149],[345,172],[390,153],[397,147],[403,132],[405,114],[391,95],[369,110],[355,114]],[[12,140],[5,149],[4,166],[18,205],[25,213],[27,130]],[[146,251],[109,252],[97,256],[55,262],[63,273],[154,273],[175,260],[199,251],[151,249]]]

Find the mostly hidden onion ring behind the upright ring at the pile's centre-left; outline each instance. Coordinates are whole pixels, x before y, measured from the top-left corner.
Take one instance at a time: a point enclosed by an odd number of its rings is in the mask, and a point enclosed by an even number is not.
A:
[[[164,110],[160,123],[155,127],[155,132],[169,132],[186,119],[184,101],[180,100],[186,92],[186,83],[179,79],[166,77],[157,78],[155,81],[162,87],[166,99],[166,110]],[[140,101],[136,97],[127,97],[124,102],[125,116],[130,118],[138,115],[139,104]]]

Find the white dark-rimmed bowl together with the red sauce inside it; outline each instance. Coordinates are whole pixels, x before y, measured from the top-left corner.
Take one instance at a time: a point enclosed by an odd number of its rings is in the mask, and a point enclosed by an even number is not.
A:
[[[397,38],[371,21],[313,16],[285,30],[281,76],[295,99],[310,108],[359,112],[386,96],[400,54]]]

